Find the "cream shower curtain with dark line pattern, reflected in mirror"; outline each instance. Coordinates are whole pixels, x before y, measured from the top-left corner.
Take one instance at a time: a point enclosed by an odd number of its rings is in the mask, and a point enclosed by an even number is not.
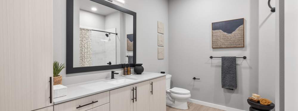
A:
[[[91,30],[80,28],[80,67],[91,66],[91,57]]]

